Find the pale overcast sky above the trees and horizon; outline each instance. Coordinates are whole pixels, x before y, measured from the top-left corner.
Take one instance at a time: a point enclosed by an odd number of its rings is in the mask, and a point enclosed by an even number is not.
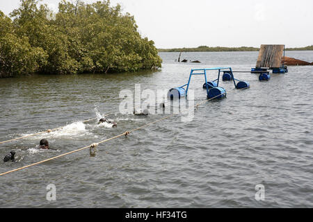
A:
[[[54,10],[58,2],[42,1]],[[313,0],[111,0],[116,3],[157,48],[313,44]],[[18,6],[19,0],[0,0],[6,15]]]

